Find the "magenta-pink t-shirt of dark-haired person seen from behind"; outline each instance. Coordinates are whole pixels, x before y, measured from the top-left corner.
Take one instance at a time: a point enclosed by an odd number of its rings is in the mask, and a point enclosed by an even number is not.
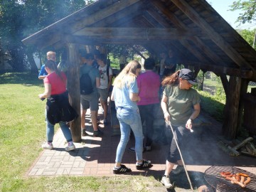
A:
[[[160,78],[159,75],[151,70],[142,73],[137,78],[139,97],[141,100],[137,102],[137,105],[150,105],[159,103],[159,87]]]

